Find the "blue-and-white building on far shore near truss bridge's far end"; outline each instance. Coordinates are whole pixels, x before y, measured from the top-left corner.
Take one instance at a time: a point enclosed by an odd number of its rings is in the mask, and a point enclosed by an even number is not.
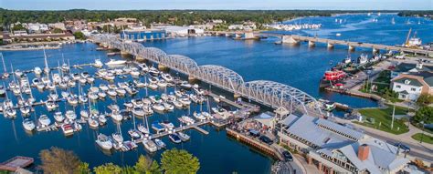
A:
[[[164,39],[165,36],[165,31],[159,29],[123,30],[121,32],[121,39],[134,41]]]

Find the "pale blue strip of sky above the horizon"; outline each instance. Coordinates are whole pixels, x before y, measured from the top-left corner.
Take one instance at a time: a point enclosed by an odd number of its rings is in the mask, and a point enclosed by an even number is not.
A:
[[[0,0],[6,9],[338,9],[432,10],[433,0]]]

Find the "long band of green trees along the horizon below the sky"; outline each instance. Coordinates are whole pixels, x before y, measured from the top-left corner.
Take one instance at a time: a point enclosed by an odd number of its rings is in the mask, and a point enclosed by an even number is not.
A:
[[[85,19],[93,22],[105,22],[119,17],[133,17],[149,26],[155,23],[172,23],[173,25],[193,25],[212,19],[222,19],[227,24],[253,21],[259,24],[280,22],[298,16],[329,16],[342,13],[366,13],[372,11],[340,11],[340,10],[84,10],[73,9],[63,11],[29,11],[7,10],[0,8],[0,24],[8,26],[16,22],[22,23],[55,23],[65,20]],[[384,12],[384,11],[382,11]],[[391,11],[388,11],[391,12]],[[395,11],[394,11],[395,12]]]

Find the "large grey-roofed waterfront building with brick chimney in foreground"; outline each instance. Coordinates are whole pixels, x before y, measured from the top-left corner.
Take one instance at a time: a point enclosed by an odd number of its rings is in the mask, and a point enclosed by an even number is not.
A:
[[[409,163],[403,150],[327,119],[290,115],[278,127],[280,142],[324,173],[397,173]]]

